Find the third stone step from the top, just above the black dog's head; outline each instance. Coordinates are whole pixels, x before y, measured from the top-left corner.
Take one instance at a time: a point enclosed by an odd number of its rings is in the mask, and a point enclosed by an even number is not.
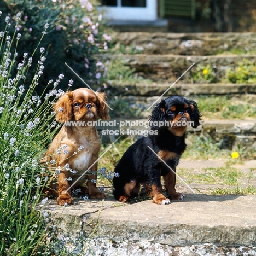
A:
[[[137,96],[147,97],[143,101],[150,101],[148,97],[155,100],[172,86],[172,83],[136,83],[134,84],[108,84],[107,90],[113,96]],[[184,84],[176,83],[165,94],[171,95],[236,95],[252,94],[256,96],[256,84]],[[159,95],[159,96],[156,96]],[[139,99],[139,98],[138,98]],[[151,100],[154,102],[154,100]],[[150,101],[150,102],[151,102]],[[256,102],[256,98],[254,99]]]

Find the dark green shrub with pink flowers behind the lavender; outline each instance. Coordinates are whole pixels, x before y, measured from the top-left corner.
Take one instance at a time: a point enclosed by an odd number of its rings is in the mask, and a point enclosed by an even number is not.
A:
[[[64,73],[65,84],[69,79],[74,80],[74,87],[84,86],[84,83],[75,75],[65,62],[86,82],[99,84],[106,75],[106,70],[96,55],[108,49],[111,39],[103,32],[102,16],[89,1],[67,0],[5,0],[8,9],[5,14],[12,18],[18,13],[22,19],[17,30],[22,30],[20,49],[32,55],[38,40],[42,36],[41,28],[47,22],[49,29],[40,45],[45,47],[47,65],[42,76],[42,83],[36,89],[42,93],[50,79],[55,79]],[[0,31],[4,24],[0,24]],[[39,47],[40,47],[39,45]],[[38,57],[36,51],[35,56]],[[22,59],[18,51],[18,60]],[[33,68],[33,67],[32,67]],[[32,77],[27,77],[31,79]]]

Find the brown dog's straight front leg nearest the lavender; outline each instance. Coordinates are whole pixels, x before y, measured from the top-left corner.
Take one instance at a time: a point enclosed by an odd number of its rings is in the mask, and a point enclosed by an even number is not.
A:
[[[67,171],[61,171],[58,176],[58,184],[59,184],[59,190],[58,190],[58,198],[57,198],[57,204],[58,205],[65,205],[67,203],[68,205],[71,204],[71,193],[70,191],[67,191],[69,189],[69,184],[67,181],[68,174]]]

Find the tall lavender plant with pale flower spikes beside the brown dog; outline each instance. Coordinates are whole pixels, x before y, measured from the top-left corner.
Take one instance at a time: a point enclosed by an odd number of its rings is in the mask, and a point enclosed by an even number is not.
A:
[[[23,53],[19,60],[20,13],[15,20],[13,33],[8,16],[0,32],[0,254],[43,255],[49,219],[47,199],[40,201],[40,194],[48,176],[38,158],[57,129],[46,113],[63,93],[57,89],[63,75],[49,82],[53,90],[45,97],[35,94],[45,69],[45,48]],[[48,27],[45,24],[40,40]],[[37,52],[39,59],[34,57]],[[36,72],[28,83],[32,66]]]

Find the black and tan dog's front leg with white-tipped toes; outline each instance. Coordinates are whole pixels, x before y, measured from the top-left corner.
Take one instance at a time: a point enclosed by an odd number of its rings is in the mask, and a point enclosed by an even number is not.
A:
[[[156,203],[158,205],[168,205],[170,203],[170,200],[166,198],[162,194],[162,185],[160,180],[160,170],[158,168],[155,168],[150,171],[150,180],[151,180],[151,196],[153,196],[153,203]]]

